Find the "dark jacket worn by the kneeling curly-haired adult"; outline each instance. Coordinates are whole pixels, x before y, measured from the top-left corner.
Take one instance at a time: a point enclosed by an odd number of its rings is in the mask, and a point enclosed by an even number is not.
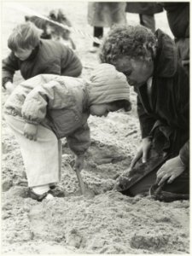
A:
[[[155,32],[158,38],[157,55],[154,60],[151,102],[149,105],[147,84],[137,89],[137,111],[142,137],[150,136],[157,120],[168,125],[189,139],[189,77],[177,60],[177,50],[172,38],[164,32]],[[184,154],[186,150],[181,150]],[[184,159],[184,157],[183,157]]]

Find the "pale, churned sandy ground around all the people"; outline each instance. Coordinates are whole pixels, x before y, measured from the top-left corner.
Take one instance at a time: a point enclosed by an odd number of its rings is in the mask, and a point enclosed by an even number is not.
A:
[[[65,4],[64,4],[65,3]],[[73,26],[92,33],[87,24],[86,2],[25,3],[46,15],[63,8]],[[9,53],[7,38],[24,14],[3,3],[3,57]],[[169,33],[166,14],[155,15],[156,26]],[[127,15],[137,24],[137,15]],[[90,54],[90,39],[73,34],[89,77],[98,63]],[[15,84],[21,81],[15,75]],[[3,92],[2,101],[7,98]],[[131,198],[113,191],[116,178],[130,166],[141,143],[136,95],[131,90],[132,110],[110,113],[107,118],[90,117],[91,145],[85,156],[82,177],[95,196],[79,195],[75,172],[69,166],[73,155],[62,140],[61,183],[52,201],[26,197],[27,182],[20,147],[2,122],[2,253],[189,253],[189,201],[164,203],[149,196]]]

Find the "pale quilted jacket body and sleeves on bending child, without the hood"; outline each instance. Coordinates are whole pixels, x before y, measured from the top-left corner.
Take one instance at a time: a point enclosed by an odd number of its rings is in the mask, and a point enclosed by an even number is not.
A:
[[[90,146],[85,83],[83,79],[38,75],[16,87],[5,103],[4,113],[44,125],[56,137],[67,137],[75,154],[84,154]]]

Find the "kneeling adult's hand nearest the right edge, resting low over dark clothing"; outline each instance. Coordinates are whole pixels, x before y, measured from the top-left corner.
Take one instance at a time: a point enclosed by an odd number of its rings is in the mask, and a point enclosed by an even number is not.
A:
[[[179,155],[167,160],[166,163],[160,167],[157,172],[156,183],[158,185],[164,183],[167,179],[167,183],[172,183],[172,181],[184,172],[185,166],[183,165]]]

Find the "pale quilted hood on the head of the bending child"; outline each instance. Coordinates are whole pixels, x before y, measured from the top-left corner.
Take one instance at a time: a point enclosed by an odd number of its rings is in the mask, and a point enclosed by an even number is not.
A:
[[[125,75],[107,63],[99,64],[91,73],[88,93],[90,105],[119,100],[130,102],[130,88]]]

